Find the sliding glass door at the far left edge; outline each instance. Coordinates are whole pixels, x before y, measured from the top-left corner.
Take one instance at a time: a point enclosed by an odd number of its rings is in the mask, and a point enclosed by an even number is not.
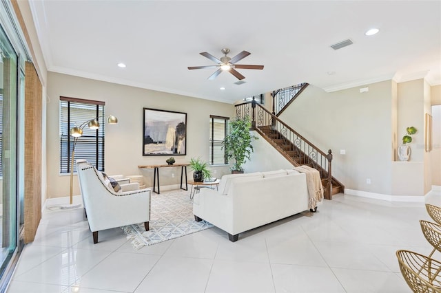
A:
[[[19,56],[0,27],[0,276],[18,250],[17,100]],[[1,290],[1,287],[0,287]]]

